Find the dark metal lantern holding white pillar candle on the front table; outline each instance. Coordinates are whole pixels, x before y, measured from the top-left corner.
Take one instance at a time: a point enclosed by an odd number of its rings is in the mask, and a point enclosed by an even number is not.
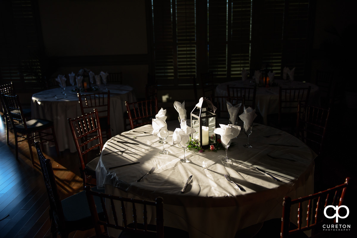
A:
[[[202,101],[202,102],[201,102]],[[198,140],[202,149],[210,147],[217,141],[216,128],[217,115],[213,112],[213,104],[207,98],[201,98],[191,112],[191,127],[196,130],[192,139]]]

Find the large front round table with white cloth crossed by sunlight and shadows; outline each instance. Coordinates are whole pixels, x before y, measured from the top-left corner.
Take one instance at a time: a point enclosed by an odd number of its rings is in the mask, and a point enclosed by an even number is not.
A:
[[[151,125],[108,140],[96,168],[97,186],[105,187],[106,193],[125,197],[155,200],[160,196],[164,198],[165,226],[186,230],[190,237],[220,238],[232,238],[242,228],[280,218],[285,196],[297,198],[313,193],[313,160],[316,154],[288,133],[254,124],[249,139],[253,148],[242,146],[247,138],[241,131],[233,139],[235,145],[228,148],[232,162],[222,162],[225,151],[219,150],[186,151],[191,162],[182,163],[183,149],[172,145],[173,131],[180,125],[178,121],[167,124],[169,138],[165,149],[169,151],[168,155],[159,154],[162,145],[158,143],[159,138],[151,134]],[[273,136],[264,137],[268,135]],[[135,144],[123,143],[125,141]],[[125,149],[123,153],[114,152]],[[267,154],[280,159],[272,159]],[[109,169],[132,162],[140,163]],[[152,167],[156,167],[154,173],[136,182]],[[224,174],[228,174],[246,192],[228,182]],[[181,193],[190,175],[193,175],[192,179],[186,191]]]

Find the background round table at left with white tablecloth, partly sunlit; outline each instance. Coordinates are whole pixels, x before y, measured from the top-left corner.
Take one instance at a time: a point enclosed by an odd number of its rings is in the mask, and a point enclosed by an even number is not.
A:
[[[61,88],[44,90],[32,95],[32,118],[42,118],[54,122],[55,133],[60,151],[70,149],[76,151],[70,126],[67,118],[76,118],[82,115],[76,92],[72,92],[73,86],[66,88],[66,94],[62,94]],[[107,92],[110,90],[110,126],[112,134],[116,135],[125,131],[123,113],[126,112],[125,101],[135,102],[133,88],[127,85],[110,84],[107,89],[100,86],[100,90],[82,94]]]

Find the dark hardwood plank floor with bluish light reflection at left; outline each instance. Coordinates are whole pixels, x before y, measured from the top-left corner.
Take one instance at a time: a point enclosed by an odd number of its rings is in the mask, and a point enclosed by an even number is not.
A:
[[[346,194],[344,204],[350,208],[350,216],[344,219],[343,224],[350,223],[354,230],[357,230],[357,210],[352,197],[357,184],[356,117],[356,110],[346,108],[341,108],[338,114],[333,115],[328,142],[330,153],[323,161],[316,161],[315,169],[316,191],[343,183],[345,177],[351,177],[352,186]],[[16,160],[13,134],[10,134],[10,140],[10,145],[7,145],[4,124],[0,122],[0,238],[51,237],[49,202],[35,148],[32,150],[35,165],[32,166],[27,143],[20,143],[19,160]],[[52,161],[61,198],[81,191],[82,180],[79,177],[76,153],[64,151],[57,155],[54,148],[44,148],[43,152]],[[356,233],[353,231],[336,237],[356,237]],[[70,237],[92,235],[94,230],[72,232]]]

